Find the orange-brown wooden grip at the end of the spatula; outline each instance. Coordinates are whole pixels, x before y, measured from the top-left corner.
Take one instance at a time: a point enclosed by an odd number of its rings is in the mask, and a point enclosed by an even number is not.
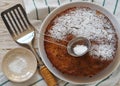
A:
[[[40,66],[39,73],[42,75],[48,86],[58,86],[55,77],[47,69],[47,67],[45,67],[44,65]]]

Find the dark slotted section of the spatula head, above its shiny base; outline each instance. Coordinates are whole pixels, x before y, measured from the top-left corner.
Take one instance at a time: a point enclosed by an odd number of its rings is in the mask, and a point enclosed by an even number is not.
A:
[[[2,17],[3,21],[6,22],[5,24],[10,34],[14,37],[20,35],[20,33],[27,29],[34,29],[27,18],[25,10],[20,4],[5,10],[1,13],[1,16],[4,16]]]

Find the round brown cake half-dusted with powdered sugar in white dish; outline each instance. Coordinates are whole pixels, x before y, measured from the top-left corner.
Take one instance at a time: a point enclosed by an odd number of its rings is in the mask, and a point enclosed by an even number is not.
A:
[[[84,56],[68,54],[67,44],[75,37],[90,40]],[[104,70],[115,58],[117,35],[110,20],[101,12],[87,7],[69,8],[49,23],[44,33],[44,47],[53,66],[64,74],[92,77]]]

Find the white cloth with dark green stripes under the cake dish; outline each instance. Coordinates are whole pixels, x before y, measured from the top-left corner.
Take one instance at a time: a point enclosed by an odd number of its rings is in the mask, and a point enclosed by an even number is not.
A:
[[[75,2],[75,1],[88,1],[97,3],[104,6],[111,13],[115,15],[120,22],[120,0],[23,0],[26,12],[29,19],[36,29],[39,27],[44,18],[56,7],[61,4]],[[37,47],[37,46],[36,46]],[[120,66],[109,77],[96,82],[94,84],[85,86],[116,86],[116,83],[120,80]],[[73,85],[71,83],[58,79],[59,86],[80,86]],[[14,83],[9,81],[5,75],[0,72],[0,86],[47,86],[43,78],[36,73],[30,80],[24,83]],[[83,85],[82,85],[83,86]]]

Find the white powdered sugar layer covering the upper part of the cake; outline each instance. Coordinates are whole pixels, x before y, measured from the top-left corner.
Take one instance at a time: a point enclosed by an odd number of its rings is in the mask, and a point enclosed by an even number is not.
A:
[[[103,14],[90,8],[74,8],[55,18],[53,22],[55,24],[49,30],[53,38],[63,40],[67,34],[86,37],[97,43],[91,46],[90,55],[103,60],[113,59],[116,50],[116,33]]]

